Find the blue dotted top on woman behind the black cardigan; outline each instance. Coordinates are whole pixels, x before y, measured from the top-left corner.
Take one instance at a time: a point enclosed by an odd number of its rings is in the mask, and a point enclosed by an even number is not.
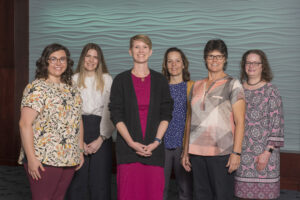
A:
[[[186,82],[170,84],[171,96],[174,100],[173,118],[164,136],[165,148],[175,149],[182,146],[187,109]]]

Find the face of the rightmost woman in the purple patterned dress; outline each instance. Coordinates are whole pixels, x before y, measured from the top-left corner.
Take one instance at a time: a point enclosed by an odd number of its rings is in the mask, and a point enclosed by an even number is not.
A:
[[[245,62],[245,71],[248,78],[260,78],[262,73],[262,63],[260,56],[250,53]]]

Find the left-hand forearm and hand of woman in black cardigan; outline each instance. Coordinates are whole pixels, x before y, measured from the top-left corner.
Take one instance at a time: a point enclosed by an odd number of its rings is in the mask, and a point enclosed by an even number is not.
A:
[[[130,146],[132,149],[134,149],[138,155],[140,155],[140,156],[151,156],[152,155],[151,152],[150,153],[146,152],[146,150],[145,150],[146,145],[143,145],[139,142],[133,141],[124,122],[118,122],[116,124],[116,128],[117,128],[118,132],[120,133],[120,135],[123,137],[123,139],[126,141],[128,146]]]

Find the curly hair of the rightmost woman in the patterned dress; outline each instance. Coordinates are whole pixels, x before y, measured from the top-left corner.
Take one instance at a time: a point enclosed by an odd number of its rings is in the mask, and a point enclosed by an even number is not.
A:
[[[245,66],[246,66],[247,57],[249,54],[256,54],[260,57],[261,64],[262,64],[261,79],[266,82],[271,82],[273,79],[273,73],[272,73],[269,61],[267,59],[267,55],[262,50],[259,50],[259,49],[251,49],[244,53],[242,60],[241,60],[241,72],[240,72],[241,82],[248,80]]]

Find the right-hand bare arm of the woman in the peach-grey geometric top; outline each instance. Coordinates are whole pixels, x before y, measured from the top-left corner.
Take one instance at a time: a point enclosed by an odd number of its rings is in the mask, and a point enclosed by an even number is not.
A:
[[[233,118],[235,123],[235,133],[234,133],[234,143],[233,151],[236,153],[242,152],[242,142],[244,138],[244,128],[245,128],[245,101],[243,99],[238,100],[232,106]],[[232,153],[229,157],[226,167],[229,167],[228,172],[232,173],[237,170],[240,165],[240,156]]]

